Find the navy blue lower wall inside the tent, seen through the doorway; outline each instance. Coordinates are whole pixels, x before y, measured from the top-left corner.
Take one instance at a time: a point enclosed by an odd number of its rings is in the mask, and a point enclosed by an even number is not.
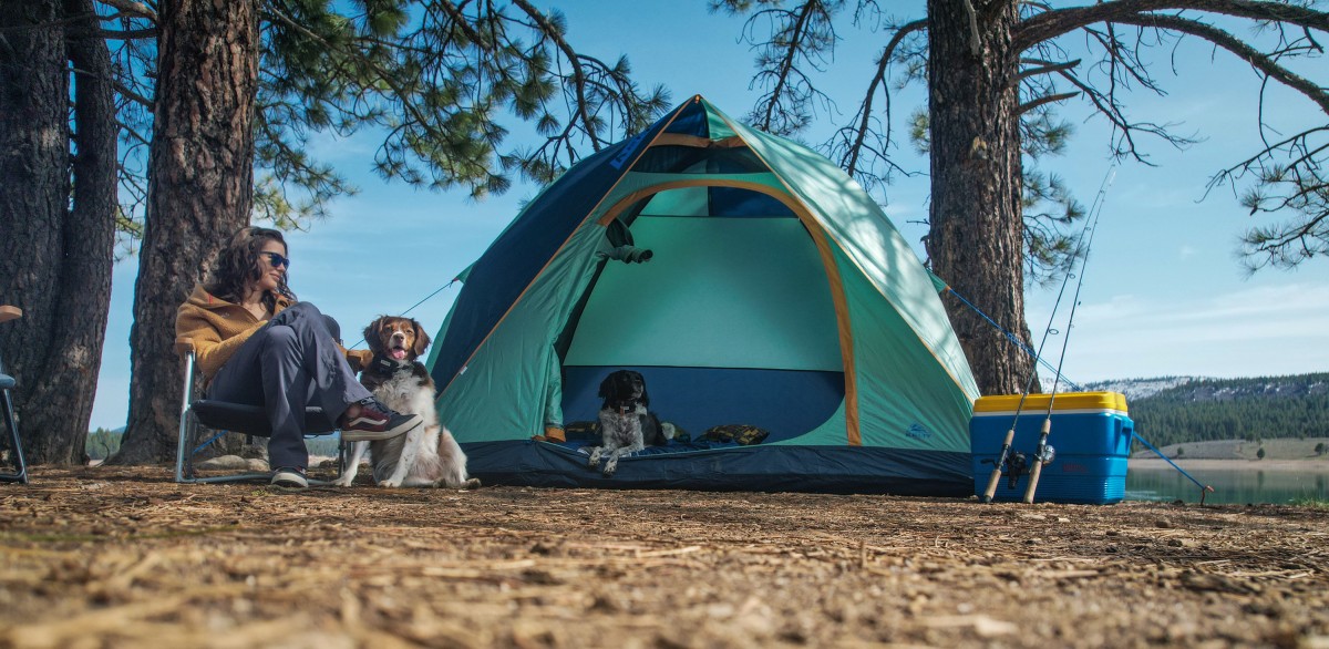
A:
[[[692,438],[726,424],[756,426],[767,443],[789,439],[825,423],[844,400],[844,372],[734,370],[718,367],[563,366],[563,420],[594,422],[603,399],[599,383],[615,370],[635,370],[646,380],[650,410]]]

